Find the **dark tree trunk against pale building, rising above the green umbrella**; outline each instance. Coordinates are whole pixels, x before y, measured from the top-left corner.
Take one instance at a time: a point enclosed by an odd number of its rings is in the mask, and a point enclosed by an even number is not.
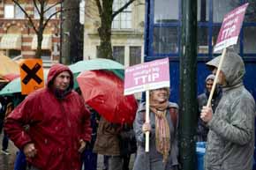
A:
[[[102,24],[98,28],[101,44],[97,57],[110,60],[113,60],[111,45],[112,4],[112,0],[102,1],[102,9],[104,9],[102,14],[100,14]]]

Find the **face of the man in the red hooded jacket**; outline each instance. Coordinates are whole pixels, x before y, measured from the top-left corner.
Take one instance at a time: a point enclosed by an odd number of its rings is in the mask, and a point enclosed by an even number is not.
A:
[[[69,71],[64,70],[63,72],[59,73],[56,78],[54,79],[53,85],[56,89],[59,90],[66,90],[71,83],[71,75]]]

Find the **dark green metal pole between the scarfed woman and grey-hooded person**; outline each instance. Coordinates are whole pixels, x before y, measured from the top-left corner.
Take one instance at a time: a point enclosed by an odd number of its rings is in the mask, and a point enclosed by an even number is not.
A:
[[[183,170],[196,165],[195,129],[197,126],[197,1],[182,0],[180,55],[179,151]]]

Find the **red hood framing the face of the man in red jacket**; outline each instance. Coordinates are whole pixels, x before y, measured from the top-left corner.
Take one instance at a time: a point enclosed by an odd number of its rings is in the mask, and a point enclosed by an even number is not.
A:
[[[68,89],[72,89],[74,86],[72,70],[70,70],[70,68],[68,68],[66,65],[61,63],[56,63],[50,67],[48,77],[47,77],[47,87],[49,88],[51,85],[53,85],[53,81],[56,78],[56,76],[65,70],[67,70],[71,75],[71,82]]]

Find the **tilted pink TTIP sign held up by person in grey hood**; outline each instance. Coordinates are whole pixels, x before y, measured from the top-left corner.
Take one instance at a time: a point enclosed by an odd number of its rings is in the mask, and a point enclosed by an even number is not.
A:
[[[215,45],[215,52],[237,44],[247,6],[248,3],[243,4],[224,16],[222,27]]]

